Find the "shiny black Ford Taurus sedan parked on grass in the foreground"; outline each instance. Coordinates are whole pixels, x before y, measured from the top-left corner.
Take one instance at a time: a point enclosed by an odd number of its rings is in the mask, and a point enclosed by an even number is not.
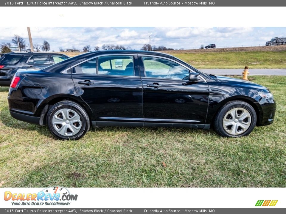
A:
[[[246,136],[255,125],[271,124],[276,111],[264,86],[204,74],[168,54],[129,50],[94,51],[37,72],[19,71],[8,103],[12,117],[75,140],[90,126],[212,125],[222,136]]]

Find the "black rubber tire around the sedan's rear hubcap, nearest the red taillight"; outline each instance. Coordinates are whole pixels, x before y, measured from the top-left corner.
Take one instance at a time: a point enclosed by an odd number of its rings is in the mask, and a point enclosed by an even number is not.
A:
[[[52,119],[55,114],[61,109],[68,109],[70,111],[73,111],[77,114],[77,116],[80,117],[81,126],[78,128],[79,130],[77,130],[76,134],[72,135],[72,133],[70,133],[71,136],[61,135],[53,126]],[[78,140],[83,137],[90,128],[90,119],[86,110],[78,103],[70,100],[63,100],[53,105],[52,108],[50,108],[50,110],[48,111],[46,121],[49,131],[52,133],[53,136],[60,140]]]

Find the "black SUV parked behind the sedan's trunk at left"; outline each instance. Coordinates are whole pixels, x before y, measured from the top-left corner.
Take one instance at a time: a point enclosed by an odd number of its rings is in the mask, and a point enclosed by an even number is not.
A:
[[[19,69],[41,69],[69,58],[63,54],[33,52],[0,55],[0,86],[10,86],[14,74]]]

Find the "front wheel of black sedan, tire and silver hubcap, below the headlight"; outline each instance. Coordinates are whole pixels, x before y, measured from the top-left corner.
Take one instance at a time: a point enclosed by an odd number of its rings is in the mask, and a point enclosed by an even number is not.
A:
[[[217,112],[214,127],[224,137],[247,136],[254,129],[257,116],[254,108],[244,101],[230,101]]]

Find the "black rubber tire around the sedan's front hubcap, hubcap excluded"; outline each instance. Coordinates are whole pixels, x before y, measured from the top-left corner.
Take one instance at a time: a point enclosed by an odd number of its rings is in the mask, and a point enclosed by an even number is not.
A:
[[[223,127],[224,117],[233,108],[243,108],[247,110],[248,113],[250,114],[250,119],[251,119],[250,126],[241,134],[232,135],[228,133]],[[241,137],[241,136],[247,136],[251,133],[251,131],[254,129],[256,125],[256,121],[257,121],[257,115],[254,108],[251,105],[241,100],[234,100],[227,102],[220,108],[220,110],[215,115],[215,120],[213,125],[215,131],[223,137]]]

